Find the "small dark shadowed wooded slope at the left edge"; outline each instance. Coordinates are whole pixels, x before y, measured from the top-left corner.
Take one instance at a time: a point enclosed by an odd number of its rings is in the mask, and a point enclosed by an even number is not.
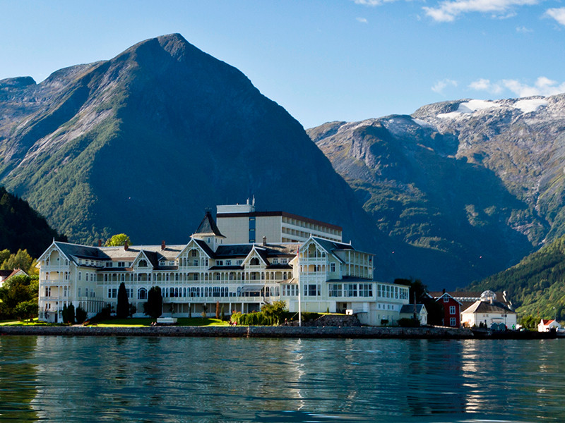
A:
[[[66,241],[27,202],[0,187],[0,250],[28,250],[37,258],[53,238]]]

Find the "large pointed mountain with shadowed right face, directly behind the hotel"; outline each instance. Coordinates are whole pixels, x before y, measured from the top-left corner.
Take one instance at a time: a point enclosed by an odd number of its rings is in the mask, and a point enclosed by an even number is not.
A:
[[[302,125],[181,35],[39,84],[2,80],[0,112],[1,182],[73,242],[186,243],[206,207],[255,195],[258,211],[311,216],[360,249],[390,249]]]

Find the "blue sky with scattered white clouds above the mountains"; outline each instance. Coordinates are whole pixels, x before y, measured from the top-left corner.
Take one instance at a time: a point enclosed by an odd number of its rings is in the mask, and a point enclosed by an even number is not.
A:
[[[172,32],[305,128],[565,92],[559,0],[0,0],[0,79],[40,82]]]

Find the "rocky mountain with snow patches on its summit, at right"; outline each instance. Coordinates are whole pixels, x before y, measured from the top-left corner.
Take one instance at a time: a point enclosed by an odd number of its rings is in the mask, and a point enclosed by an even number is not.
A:
[[[431,104],[307,130],[374,224],[456,286],[565,233],[565,95]]]

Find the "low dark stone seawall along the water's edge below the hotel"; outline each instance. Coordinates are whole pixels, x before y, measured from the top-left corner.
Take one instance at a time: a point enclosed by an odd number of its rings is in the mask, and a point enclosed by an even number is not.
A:
[[[345,326],[0,326],[0,336],[177,336],[220,338],[552,339],[554,333]]]

